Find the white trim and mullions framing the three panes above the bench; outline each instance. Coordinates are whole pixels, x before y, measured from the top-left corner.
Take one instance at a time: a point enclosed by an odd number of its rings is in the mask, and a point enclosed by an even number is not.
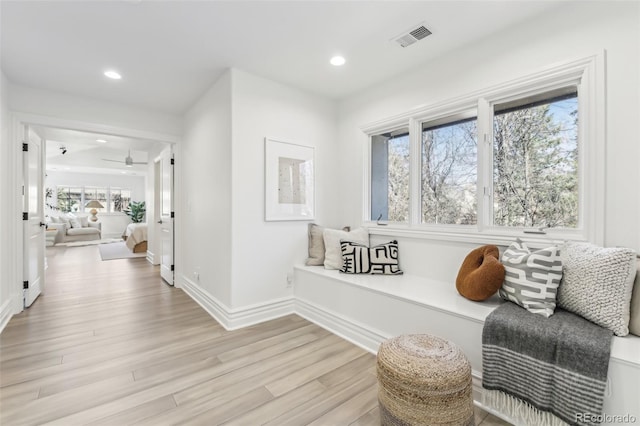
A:
[[[530,234],[523,228],[506,228],[486,225],[491,212],[487,202],[479,203],[478,225],[432,225],[422,224],[420,211],[420,170],[421,170],[421,123],[437,120],[460,113],[464,110],[478,111],[478,194],[492,181],[491,170],[487,170],[487,156],[492,156],[493,129],[486,127],[493,113],[493,103],[509,98],[522,97],[527,93],[540,93],[559,87],[576,84],[578,86],[579,142],[579,217],[576,229],[549,229],[546,234]],[[606,98],[605,98],[605,52],[589,57],[556,64],[541,71],[518,78],[504,84],[478,90],[469,95],[421,106],[393,117],[369,123],[360,129],[363,132],[363,221],[374,235],[404,236],[443,241],[473,243],[508,244],[515,237],[528,241],[548,242],[574,240],[604,243],[604,195],[605,195],[605,146],[606,146]],[[411,164],[409,169],[409,222],[378,225],[371,218],[371,150],[373,135],[409,128]],[[484,141],[487,141],[486,143]],[[588,173],[585,173],[588,170]]]

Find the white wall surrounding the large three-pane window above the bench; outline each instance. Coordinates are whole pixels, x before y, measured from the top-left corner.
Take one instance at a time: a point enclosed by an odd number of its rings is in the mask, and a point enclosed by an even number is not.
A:
[[[362,220],[360,126],[606,49],[605,244],[640,250],[640,191],[634,186],[640,181],[639,8],[637,2],[567,2],[552,14],[478,40],[342,101],[340,204],[345,219]],[[388,239],[376,237],[372,242]],[[399,242],[406,270],[449,280],[455,279],[464,256],[474,247],[411,238]]]

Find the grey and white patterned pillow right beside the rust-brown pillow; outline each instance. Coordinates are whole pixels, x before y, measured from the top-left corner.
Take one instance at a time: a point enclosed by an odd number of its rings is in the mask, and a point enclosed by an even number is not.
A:
[[[562,278],[558,252],[556,246],[532,252],[520,239],[512,243],[502,255],[505,277],[500,297],[534,314],[553,315]]]

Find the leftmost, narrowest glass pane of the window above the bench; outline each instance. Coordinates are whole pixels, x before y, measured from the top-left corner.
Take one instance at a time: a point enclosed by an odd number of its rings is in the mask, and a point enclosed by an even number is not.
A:
[[[371,137],[371,219],[409,220],[409,130]]]

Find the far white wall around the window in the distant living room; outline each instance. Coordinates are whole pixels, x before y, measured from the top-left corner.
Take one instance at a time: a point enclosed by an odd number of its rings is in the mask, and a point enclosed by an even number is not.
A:
[[[148,205],[150,200],[146,199],[146,180],[145,176],[73,173],[48,170],[44,185],[45,188],[55,188],[56,186],[95,186],[130,189],[132,201],[146,201]],[[55,205],[55,191],[52,201]],[[56,215],[56,212],[50,212],[48,209],[45,210],[48,214]],[[80,213],[79,216],[88,216],[88,210],[89,209],[85,209],[85,212]],[[115,212],[99,212],[98,220],[102,223],[103,238],[121,236],[127,225],[131,223],[131,219],[125,213]]]

